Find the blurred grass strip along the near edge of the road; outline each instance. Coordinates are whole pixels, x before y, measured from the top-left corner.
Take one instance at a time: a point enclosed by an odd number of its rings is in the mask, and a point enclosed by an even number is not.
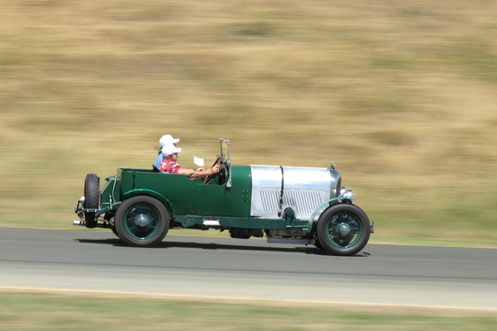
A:
[[[2,330],[494,331],[493,314],[0,292]]]

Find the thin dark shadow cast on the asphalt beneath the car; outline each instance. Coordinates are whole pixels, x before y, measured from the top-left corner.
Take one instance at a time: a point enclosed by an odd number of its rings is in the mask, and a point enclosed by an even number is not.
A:
[[[104,245],[110,245],[110,246],[115,246],[115,247],[129,247],[126,245],[122,240],[116,238],[116,239],[74,239],[74,241],[83,243],[83,244],[104,244]],[[189,242],[189,243],[178,243],[178,242],[167,242],[164,241],[160,244],[158,244],[155,247],[150,247],[150,248],[133,248],[133,249],[161,249],[161,248],[196,248],[196,249],[209,249],[209,250],[251,250],[251,251],[272,251],[272,252],[299,252],[299,253],[304,253],[304,254],[310,254],[310,255],[330,255],[326,250],[320,249],[314,246],[305,246],[305,247],[292,247],[292,248],[285,248],[285,247],[263,247],[263,246],[248,246],[248,245],[225,245],[225,244],[214,244],[214,243],[209,243],[209,244],[200,244],[200,243],[195,243],[195,242]],[[355,254],[355,257],[367,257],[369,256],[369,253],[366,252],[359,252],[358,254]]]

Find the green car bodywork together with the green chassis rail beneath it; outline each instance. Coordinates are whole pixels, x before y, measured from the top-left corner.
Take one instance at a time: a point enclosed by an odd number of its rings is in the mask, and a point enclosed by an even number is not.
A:
[[[117,178],[113,210],[119,201],[145,194],[164,203],[183,228],[202,226],[204,220],[217,220],[221,228],[289,230],[305,229],[307,221],[293,218],[262,219],[250,217],[252,178],[250,166],[231,166],[232,187],[218,179],[205,185],[202,179],[190,180],[184,175],[155,172],[148,169],[119,168],[115,177],[105,178],[101,188],[101,208],[109,211],[114,180]],[[226,174],[226,179],[228,174]],[[293,215],[293,213],[292,213]]]

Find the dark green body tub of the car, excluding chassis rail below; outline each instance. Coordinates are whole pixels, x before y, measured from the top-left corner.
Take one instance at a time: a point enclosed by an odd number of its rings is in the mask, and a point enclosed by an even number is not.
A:
[[[233,165],[231,171],[231,188],[226,187],[226,182],[220,185],[217,180],[212,180],[206,185],[201,179],[192,181],[181,174],[148,169],[118,169],[117,176],[121,177],[122,199],[147,194],[161,200],[174,215],[248,218],[252,187],[250,167]],[[102,199],[105,199],[103,194]]]

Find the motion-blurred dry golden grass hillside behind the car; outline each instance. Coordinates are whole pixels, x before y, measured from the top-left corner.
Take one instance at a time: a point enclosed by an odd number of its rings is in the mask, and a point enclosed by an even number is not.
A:
[[[72,228],[168,133],[333,160],[377,236],[496,242],[496,129],[495,1],[0,2],[0,225]]]

